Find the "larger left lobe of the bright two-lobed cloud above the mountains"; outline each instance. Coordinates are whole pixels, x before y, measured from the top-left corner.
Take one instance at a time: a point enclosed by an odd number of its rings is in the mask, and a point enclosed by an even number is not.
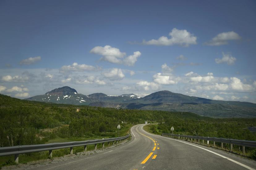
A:
[[[110,45],[106,45],[104,47],[96,46],[92,48],[91,53],[102,55],[101,60],[108,61],[110,63],[120,64],[122,59],[126,53],[120,52],[118,48],[111,47]]]

